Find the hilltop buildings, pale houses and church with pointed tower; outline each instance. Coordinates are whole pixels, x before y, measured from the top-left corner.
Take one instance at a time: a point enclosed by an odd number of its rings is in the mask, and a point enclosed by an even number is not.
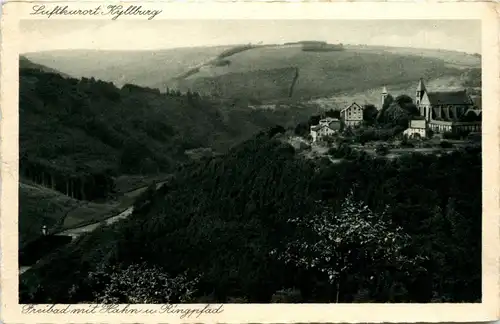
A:
[[[382,106],[388,95],[387,88],[384,87]],[[466,90],[430,92],[420,79],[415,93],[415,105],[419,116],[410,120],[403,133],[409,137],[426,137],[430,131],[481,132],[481,96],[468,95]],[[363,107],[354,102],[340,111],[340,119],[327,117],[321,119],[318,125],[311,126],[311,137],[316,142],[324,136],[339,132],[342,127],[355,127],[362,122]]]

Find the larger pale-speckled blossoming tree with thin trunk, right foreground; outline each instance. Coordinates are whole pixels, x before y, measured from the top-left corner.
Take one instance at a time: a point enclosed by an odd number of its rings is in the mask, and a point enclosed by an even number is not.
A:
[[[401,227],[393,226],[383,213],[374,213],[354,199],[346,197],[340,212],[318,202],[316,212],[289,220],[301,235],[291,240],[278,258],[305,270],[316,270],[335,287],[340,301],[341,283],[347,276],[373,281],[384,271],[416,269],[421,256],[404,253],[410,237]]]

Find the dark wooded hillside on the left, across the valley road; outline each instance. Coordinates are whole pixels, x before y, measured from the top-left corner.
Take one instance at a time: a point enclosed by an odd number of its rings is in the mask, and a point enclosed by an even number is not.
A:
[[[114,175],[171,172],[188,160],[187,150],[224,152],[263,127],[296,123],[292,113],[225,110],[197,93],[117,88],[26,62],[21,58],[21,176],[79,199],[105,196]]]

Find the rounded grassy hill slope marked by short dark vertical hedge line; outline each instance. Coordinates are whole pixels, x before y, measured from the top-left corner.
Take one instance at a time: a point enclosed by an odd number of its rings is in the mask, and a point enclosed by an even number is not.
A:
[[[304,52],[294,46],[269,47],[240,52],[228,59],[230,65],[202,69],[185,80],[183,87],[209,93],[215,89],[224,97],[280,99],[286,96],[283,89],[290,86],[293,68],[298,67],[300,77],[294,97],[306,99],[400,84],[420,77],[459,74],[459,70],[437,58],[356,49]],[[277,77],[276,72],[281,71],[278,69],[284,68],[290,71]]]

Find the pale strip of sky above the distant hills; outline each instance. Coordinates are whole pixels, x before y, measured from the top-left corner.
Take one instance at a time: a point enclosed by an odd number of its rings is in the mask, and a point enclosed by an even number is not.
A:
[[[22,20],[20,52],[299,40],[481,53],[480,20]]]

